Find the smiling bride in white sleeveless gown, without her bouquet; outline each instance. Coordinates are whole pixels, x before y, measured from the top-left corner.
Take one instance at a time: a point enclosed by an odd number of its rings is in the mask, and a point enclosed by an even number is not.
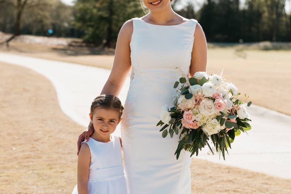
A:
[[[207,44],[195,19],[172,10],[172,0],[143,0],[150,12],[120,29],[113,67],[101,94],[118,96],[132,67],[121,122],[125,176],[129,194],[190,194],[190,152],[174,155],[179,135],[162,138],[162,105],[172,107],[174,83],[181,76],[206,71]],[[94,131],[79,136],[80,143]]]

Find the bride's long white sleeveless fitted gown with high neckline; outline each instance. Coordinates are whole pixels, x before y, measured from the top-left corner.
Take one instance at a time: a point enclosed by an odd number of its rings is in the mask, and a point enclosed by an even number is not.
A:
[[[162,137],[162,105],[173,106],[173,85],[189,66],[197,20],[155,25],[132,18],[132,72],[121,121],[125,176],[129,194],[190,194],[190,152],[174,155],[179,141]],[[176,68],[178,67],[178,68]]]

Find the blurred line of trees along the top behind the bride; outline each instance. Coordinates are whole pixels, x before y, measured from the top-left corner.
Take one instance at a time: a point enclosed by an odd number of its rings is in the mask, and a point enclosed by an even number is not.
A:
[[[208,42],[291,41],[290,0],[193,1],[176,10],[202,26]],[[195,9],[196,8],[196,9]],[[198,11],[195,11],[198,10]],[[73,6],[60,0],[0,0],[0,31],[20,34],[77,37],[84,42],[114,47],[122,24],[148,10],[139,0],[76,0]]]

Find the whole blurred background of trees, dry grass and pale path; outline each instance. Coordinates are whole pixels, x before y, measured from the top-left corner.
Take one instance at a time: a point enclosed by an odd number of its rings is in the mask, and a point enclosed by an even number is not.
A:
[[[252,129],[226,161],[208,148],[193,156],[192,193],[291,193],[291,0],[174,0],[172,8],[202,26],[207,73],[223,69],[238,98],[253,102]],[[147,12],[139,0],[0,0],[1,192],[72,192],[77,139],[119,30]],[[123,104],[128,87],[129,77]]]

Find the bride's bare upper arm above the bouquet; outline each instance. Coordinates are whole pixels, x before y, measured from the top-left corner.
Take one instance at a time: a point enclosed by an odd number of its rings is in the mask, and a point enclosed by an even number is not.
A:
[[[189,74],[193,77],[196,72],[206,72],[207,42],[199,23],[196,24]]]

